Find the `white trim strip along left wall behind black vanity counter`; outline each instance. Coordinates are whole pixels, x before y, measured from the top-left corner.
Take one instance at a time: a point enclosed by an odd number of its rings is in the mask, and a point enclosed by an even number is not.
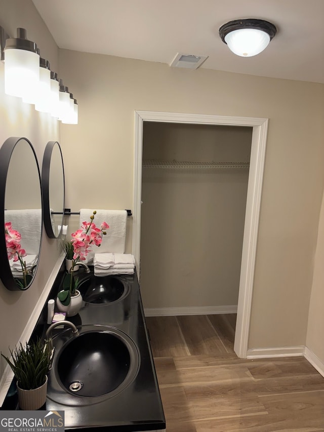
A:
[[[30,336],[35,328],[35,325],[37,323],[38,317],[40,315],[40,313],[42,312],[42,309],[44,307],[44,304],[46,302],[46,299],[49,295],[49,292],[51,291],[53,284],[55,282],[55,278],[59,272],[59,269],[62,265],[62,262],[64,260],[64,252],[61,253],[61,255],[59,256],[56,264],[54,265],[54,268],[49,276],[49,279],[47,280],[47,283],[44,287],[44,290],[42,292],[41,295],[39,295],[38,297],[38,301],[35,304],[34,310],[32,311],[30,318],[26,324],[25,330],[23,331],[20,340],[17,343],[17,346],[19,345],[19,343],[21,342],[22,345],[25,345],[26,341],[28,341],[30,339]],[[2,406],[2,404],[4,403],[4,400],[7,396],[7,392],[9,390],[11,381],[14,377],[14,373],[12,371],[12,369],[10,368],[10,366],[7,364],[7,366],[5,367],[4,373],[1,377],[0,380],[0,407]]]

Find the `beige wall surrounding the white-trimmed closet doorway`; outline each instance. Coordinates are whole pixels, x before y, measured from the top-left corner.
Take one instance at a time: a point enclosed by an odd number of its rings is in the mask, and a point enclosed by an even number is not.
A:
[[[60,50],[67,204],[131,208],[134,110],[269,118],[249,347],[303,345],[323,192],[324,86]]]

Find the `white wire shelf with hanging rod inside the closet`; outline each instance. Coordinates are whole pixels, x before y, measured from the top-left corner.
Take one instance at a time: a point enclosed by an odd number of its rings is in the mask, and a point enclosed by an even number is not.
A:
[[[157,161],[144,160],[143,168],[249,168],[249,162],[188,162],[188,161]]]

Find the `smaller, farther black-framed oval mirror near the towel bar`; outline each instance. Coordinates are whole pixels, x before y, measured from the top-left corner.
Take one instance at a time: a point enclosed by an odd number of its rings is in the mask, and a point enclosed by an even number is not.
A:
[[[45,230],[50,239],[57,239],[62,230],[65,199],[63,156],[57,141],[49,141],[45,147],[42,188]]]

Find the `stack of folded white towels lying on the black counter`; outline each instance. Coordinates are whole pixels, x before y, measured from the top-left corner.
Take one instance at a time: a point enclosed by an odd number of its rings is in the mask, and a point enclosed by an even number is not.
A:
[[[96,276],[133,274],[135,269],[135,259],[132,254],[96,253],[93,263]]]

